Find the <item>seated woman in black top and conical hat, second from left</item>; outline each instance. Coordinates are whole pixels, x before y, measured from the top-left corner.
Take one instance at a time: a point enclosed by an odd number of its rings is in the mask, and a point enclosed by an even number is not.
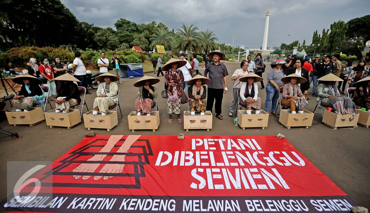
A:
[[[80,92],[75,82],[80,82],[77,78],[69,73],[65,73],[54,80],[60,80],[61,87],[58,96],[55,99],[55,112],[58,113],[63,110],[63,113],[69,112],[70,106],[76,106],[81,103]]]

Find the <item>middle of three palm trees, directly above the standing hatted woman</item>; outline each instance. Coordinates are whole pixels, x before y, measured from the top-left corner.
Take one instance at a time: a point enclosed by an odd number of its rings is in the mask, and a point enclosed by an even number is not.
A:
[[[174,39],[175,48],[188,52],[188,59],[190,59],[190,51],[195,51],[201,46],[198,27],[193,25],[186,26],[182,24],[180,29],[176,30],[176,37]]]

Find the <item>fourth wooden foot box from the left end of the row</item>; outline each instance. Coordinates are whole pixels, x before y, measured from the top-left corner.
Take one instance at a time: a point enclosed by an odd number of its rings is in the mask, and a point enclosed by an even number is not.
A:
[[[135,116],[135,111],[127,116],[128,129],[134,132],[135,130],[158,130],[159,127],[159,111],[152,111],[151,116],[141,115]]]

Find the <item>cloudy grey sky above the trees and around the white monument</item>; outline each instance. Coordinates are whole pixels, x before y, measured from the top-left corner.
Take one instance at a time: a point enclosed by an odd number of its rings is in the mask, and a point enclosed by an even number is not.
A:
[[[262,46],[265,13],[270,8],[268,45],[312,41],[334,21],[349,21],[369,14],[370,0],[61,0],[80,21],[112,27],[119,18],[137,24],[164,23],[175,30],[195,25],[212,30],[218,43]],[[114,28],[115,29],[115,28]]]

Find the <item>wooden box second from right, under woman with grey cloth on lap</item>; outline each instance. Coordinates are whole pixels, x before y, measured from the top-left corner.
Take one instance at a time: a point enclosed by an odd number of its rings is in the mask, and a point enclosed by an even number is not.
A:
[[[353,117],[352,114],[337,114],[330,111],[324,111],[323,123],[326,126],[336,129],[337,127],[354,127],[357,126],[359,113]]]

